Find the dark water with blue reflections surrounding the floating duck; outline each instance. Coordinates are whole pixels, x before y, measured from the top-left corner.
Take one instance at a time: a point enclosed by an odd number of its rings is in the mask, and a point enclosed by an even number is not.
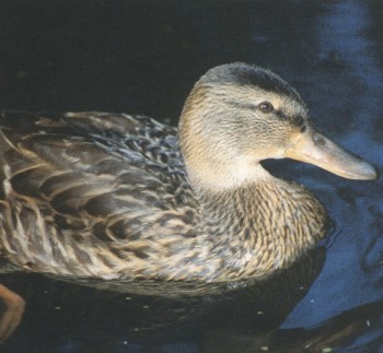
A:
[[[382,170],[381,1],[0,1],[0,106],[176,123],[207,69],[268,67],[316,125]],[[2,352],[382,352],[383,185],[292,162],[334,231],[263,285],[171,299],[1,278],[26,299]],[[380,351],[381,350],[381,351]]]

